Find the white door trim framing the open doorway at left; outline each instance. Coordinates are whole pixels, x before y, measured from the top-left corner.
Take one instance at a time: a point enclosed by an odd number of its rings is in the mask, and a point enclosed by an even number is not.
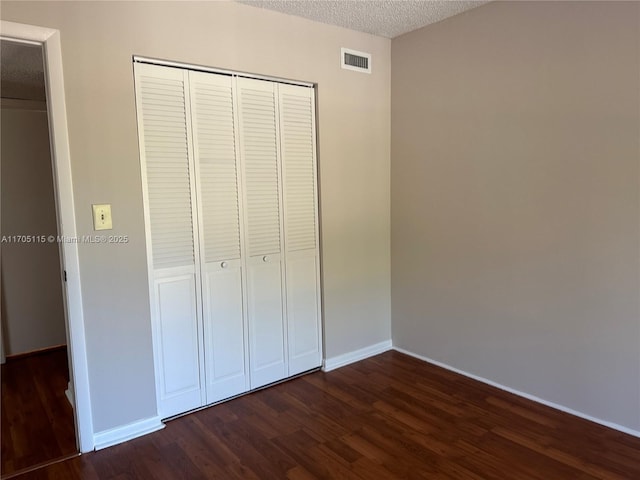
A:
[[[49,131],[53,156],[53,178],[58,210],[58,234],[76,238],[71,158],[67,131],[64,77],[60,32],[51,28],[0,21],[0,34],[6,39],[39,43],[43,46],[45,82],[49,102]],[[64,300],[67,317],[67,338],[71,364],[71,382],[75,396],[76,432],[81,452],[94,448],[89,370],[82,309],[80,259],[76,242],[63,242],[60,260],[67,272]]]

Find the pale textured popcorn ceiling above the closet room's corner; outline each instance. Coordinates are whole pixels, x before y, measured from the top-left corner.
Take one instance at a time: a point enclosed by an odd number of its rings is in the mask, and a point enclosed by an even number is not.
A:
[[[393,38],[478,7],[486,0],[236,0],[246,5]]]

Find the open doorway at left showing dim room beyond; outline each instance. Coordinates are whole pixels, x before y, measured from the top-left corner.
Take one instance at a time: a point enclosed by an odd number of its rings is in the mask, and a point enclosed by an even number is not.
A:
[[[42,44],[0,40],[2,460],[77,454]]]

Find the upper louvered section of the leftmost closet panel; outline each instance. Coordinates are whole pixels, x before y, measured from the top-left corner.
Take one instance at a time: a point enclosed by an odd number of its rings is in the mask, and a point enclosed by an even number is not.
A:
[[[139,66],[154,270],[194,264],[185,83],[182,72]]]

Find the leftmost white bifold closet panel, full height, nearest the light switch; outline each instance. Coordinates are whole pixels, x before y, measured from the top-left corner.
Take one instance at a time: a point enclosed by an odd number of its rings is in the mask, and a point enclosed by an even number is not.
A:
[[[158,410],[202,405],[199,260],[187,72],[135,64]]]

